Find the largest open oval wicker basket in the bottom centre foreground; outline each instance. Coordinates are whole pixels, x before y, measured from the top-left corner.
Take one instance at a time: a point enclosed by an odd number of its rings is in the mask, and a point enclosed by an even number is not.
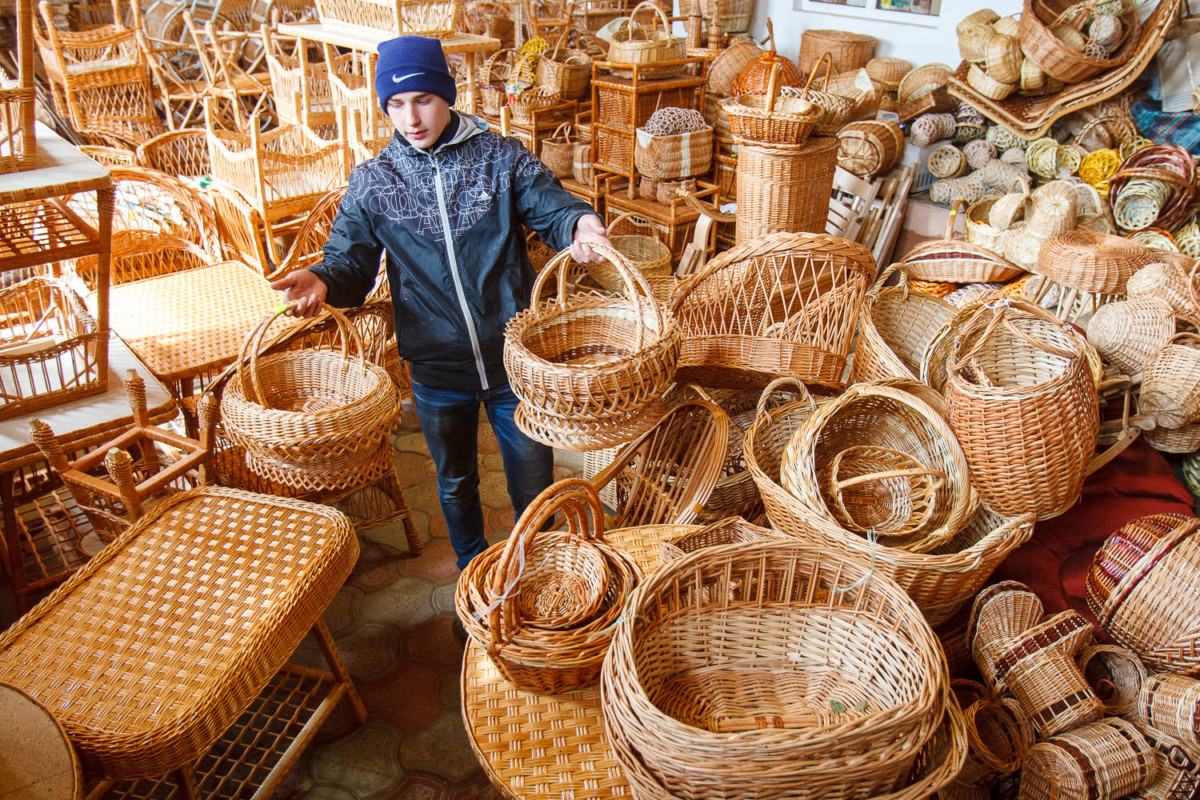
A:
[[[932,631],[869,570],[762,541],[650,576],[601,675],[635,796],[834,799],[902,784],[953,700]]]

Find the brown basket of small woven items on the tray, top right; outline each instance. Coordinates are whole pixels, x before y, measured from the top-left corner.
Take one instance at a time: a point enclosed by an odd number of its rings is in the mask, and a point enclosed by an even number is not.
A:
[[[1064,41],[1068,31],[1079,35],[1096,5],[1094,1],[1025,0],[1018,24],[1025,58],[1051,78],[1067,84],[1081,83],[1129,61],[1138,53],[1141,38],[1140,18],[1132,11],[1121,17],[1123,36],[1121,46],[1111,55],[1088,55],[1072,49]]]

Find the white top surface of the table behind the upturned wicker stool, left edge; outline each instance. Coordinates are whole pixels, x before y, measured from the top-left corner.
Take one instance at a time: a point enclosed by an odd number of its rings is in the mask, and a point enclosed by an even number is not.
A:
[[[113,438],[121,428],[133,425],[130,398],[121,385],[130,369],[137,371],[145,381],[146,408],[151,421],[158,425],[175,416],[178,409],[167,389],[116,335],[110,335],[108,391],[0,422],[0,474],[42,461],[41,451],[29,439],[29,423],[34,419],[49,425],[68,450],[91,449]]]

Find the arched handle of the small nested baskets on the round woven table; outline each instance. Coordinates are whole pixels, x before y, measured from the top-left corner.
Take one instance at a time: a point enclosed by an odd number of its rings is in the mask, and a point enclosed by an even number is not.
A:
[[[492,642],[488,650],[496,655],[521,627],[516,602],[526,561],[534,541],[542,535],[563,535],[562,530],[544,531],[547,523],[562,513],[566,535],[587,542],[604,541],[604,506],[600,495],[588,481],[568,477],[547,487],[524,510],[512,534],[504,542],[487,584],[488,630]]]

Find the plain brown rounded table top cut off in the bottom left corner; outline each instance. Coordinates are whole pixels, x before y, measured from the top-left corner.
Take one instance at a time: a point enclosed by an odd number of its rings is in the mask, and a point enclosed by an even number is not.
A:
[[[83,774],[71,742],[49,711],[25,692],[0,684],[0,798],[72,800],[83,796]]]

